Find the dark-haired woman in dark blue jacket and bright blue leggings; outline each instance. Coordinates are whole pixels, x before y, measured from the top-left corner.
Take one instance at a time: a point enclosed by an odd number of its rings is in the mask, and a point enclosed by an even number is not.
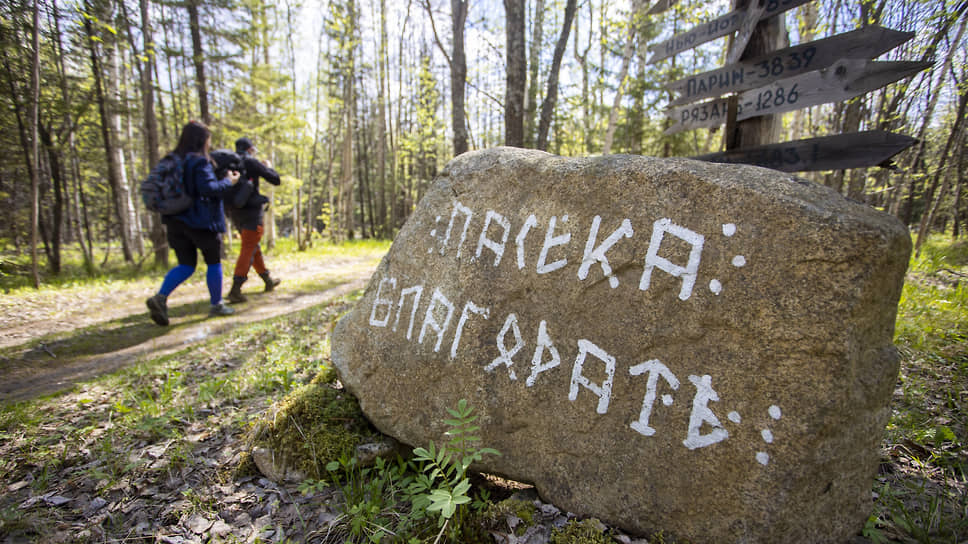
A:
[[[168,325],[168,296],[195,272],[198,252],[208,266],[205,281],[212,305],[208,315],[234,313],[222,301],[222,233],[225,232],[223,193],[239,180],[239,173],[229,171],[224,179],[216,179],[208,156],[212,133],[204,124],[191,121],[182,129],[178,145],[172,154],[182,160],[185,188],[194,197],[184,212],[163,215],[168,246],[175,251],[178,265],[165,274],[158,294],[146,303],[151,319]]]

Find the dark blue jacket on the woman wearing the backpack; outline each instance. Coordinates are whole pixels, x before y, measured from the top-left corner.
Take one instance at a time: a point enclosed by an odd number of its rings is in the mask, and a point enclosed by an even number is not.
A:
[[[225,232],[225,211],[222,198],[233,187],[228,179],[217,179],[212,163],[199,153],[189,153],[183,159],[185,189],[194,197],[187,210],[162,216],[162,221],[180,221],[193,229]],[[241,183],[241,180],[240,180]]]

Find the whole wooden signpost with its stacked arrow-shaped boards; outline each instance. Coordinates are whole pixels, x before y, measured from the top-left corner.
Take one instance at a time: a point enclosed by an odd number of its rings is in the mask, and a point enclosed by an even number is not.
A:
[[[659,0],[653,9],[660,8],[665,1]],[[930,62],[870,60],[914,37],[911,32],[876,25],[776,51],[770,51],[768,47],[759,48],[761,54],[749,51],[747,42],[763,26],[759,22],[808,1],[749,0],[750,5],[745,9],[735,9],[650,46],[653,55],[648,62],[652,63],[737,33],[726,66],[666,86],[679,96],[670,102],[672,109],[668,115],[673,124],[665,134],[725,123],[726,152],[694,158],[756,164],[784,172],[884,166],[891,157],[913,145],[914,138],[870,131],[733,149],[742,145],[737,135],[750,119],[769,119],[762,116],[849,100],[911,77],[932,65]],[[744,53],[747,57],[754,57],[740,60]],[[709,98],[714,100],[695,104]],[[763,140],[759,139],[760,142]],[[753,143],[756,143],[755,139]]]

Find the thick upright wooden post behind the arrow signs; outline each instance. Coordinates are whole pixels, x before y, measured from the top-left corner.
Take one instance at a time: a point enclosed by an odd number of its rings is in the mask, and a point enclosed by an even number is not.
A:
[[[765,0],[734,0],[735,9],[752,9],[754,2]],[[786,38],[786,24],[782,16],[769,17],[757,23],[739,60],[743,61],[760,55],[765,55],[780,49]],[[733,40],[730,39],[730,44]],[[745,121],[735,121],[736,100],[730,101],[730,110],[726,123],[725,139],[726,151],[775,143],[780,139],[782,118],[778,115],[764,115]],[[732,121],[732,122],[730,122]]]

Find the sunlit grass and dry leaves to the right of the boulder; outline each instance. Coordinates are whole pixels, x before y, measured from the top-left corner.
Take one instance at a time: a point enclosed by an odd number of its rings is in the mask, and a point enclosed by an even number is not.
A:
[[[935,235],[912,257],[895,331],[901,372],[864,534],[960,544],[968,536],[968,242]]]

